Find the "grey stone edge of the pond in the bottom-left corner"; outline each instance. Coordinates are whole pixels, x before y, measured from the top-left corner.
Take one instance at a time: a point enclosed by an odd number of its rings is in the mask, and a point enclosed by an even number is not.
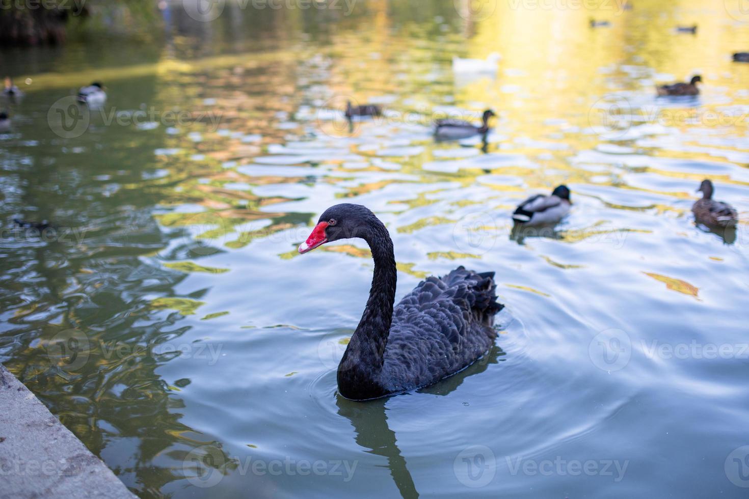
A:
[[[136,498],[0,364],[0,498]]]

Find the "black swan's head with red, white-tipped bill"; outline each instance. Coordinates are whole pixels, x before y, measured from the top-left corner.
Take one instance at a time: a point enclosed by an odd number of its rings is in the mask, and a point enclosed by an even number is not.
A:
[[[326,242],[339,239],[366,239],[372,224],[375,223],[377,217],[366,206],[350,203],[330,206],[320,215],[318,224],[312,229],[307,240],[299,246],[299,252],[305,254]]]

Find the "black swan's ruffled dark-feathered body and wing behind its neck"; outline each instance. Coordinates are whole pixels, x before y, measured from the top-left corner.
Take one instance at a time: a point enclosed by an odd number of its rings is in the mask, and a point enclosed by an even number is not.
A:
[[[428,278],[393,310],[383,385],[392,392],[431,385],[476,361],[494,343],[494,272],[459,267]]]

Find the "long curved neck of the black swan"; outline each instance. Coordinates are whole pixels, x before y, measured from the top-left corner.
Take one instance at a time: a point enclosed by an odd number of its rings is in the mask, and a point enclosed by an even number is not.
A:
[[[397,281],[392,240],[377,218],[372,221],[364,239],[372,250],[375,275],[366,309],[339,365],[339,380],[343,375],[358,379],[359,382],[372,381],[366,378],[380,373],[392,324],[392,305],[395,302]]]

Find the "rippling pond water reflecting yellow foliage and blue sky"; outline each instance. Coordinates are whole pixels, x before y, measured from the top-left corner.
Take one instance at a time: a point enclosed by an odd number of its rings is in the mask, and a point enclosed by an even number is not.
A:
[[[749,18],[342,5],[196,22],[176,2],[157,41],[0,52],[26,92],[0,135],[0,361],[142,497],[745,497]],[[453,73],[492,52],[496,73]],[[655,99],[693,74],[700,97]],[[73,112],[94,80],[108,102]],[[349,129],[347,100],[386,115]],[[434,118],[485,108],[486,144],[434,141]],[[735,231],[694,224],[705,177]],[[568,218],[513,235],[560,183]],[[497,272],[496,347],[421,391],[339,397],[372,260],[296,248],[340,202],[386,223],[398,298]]]

